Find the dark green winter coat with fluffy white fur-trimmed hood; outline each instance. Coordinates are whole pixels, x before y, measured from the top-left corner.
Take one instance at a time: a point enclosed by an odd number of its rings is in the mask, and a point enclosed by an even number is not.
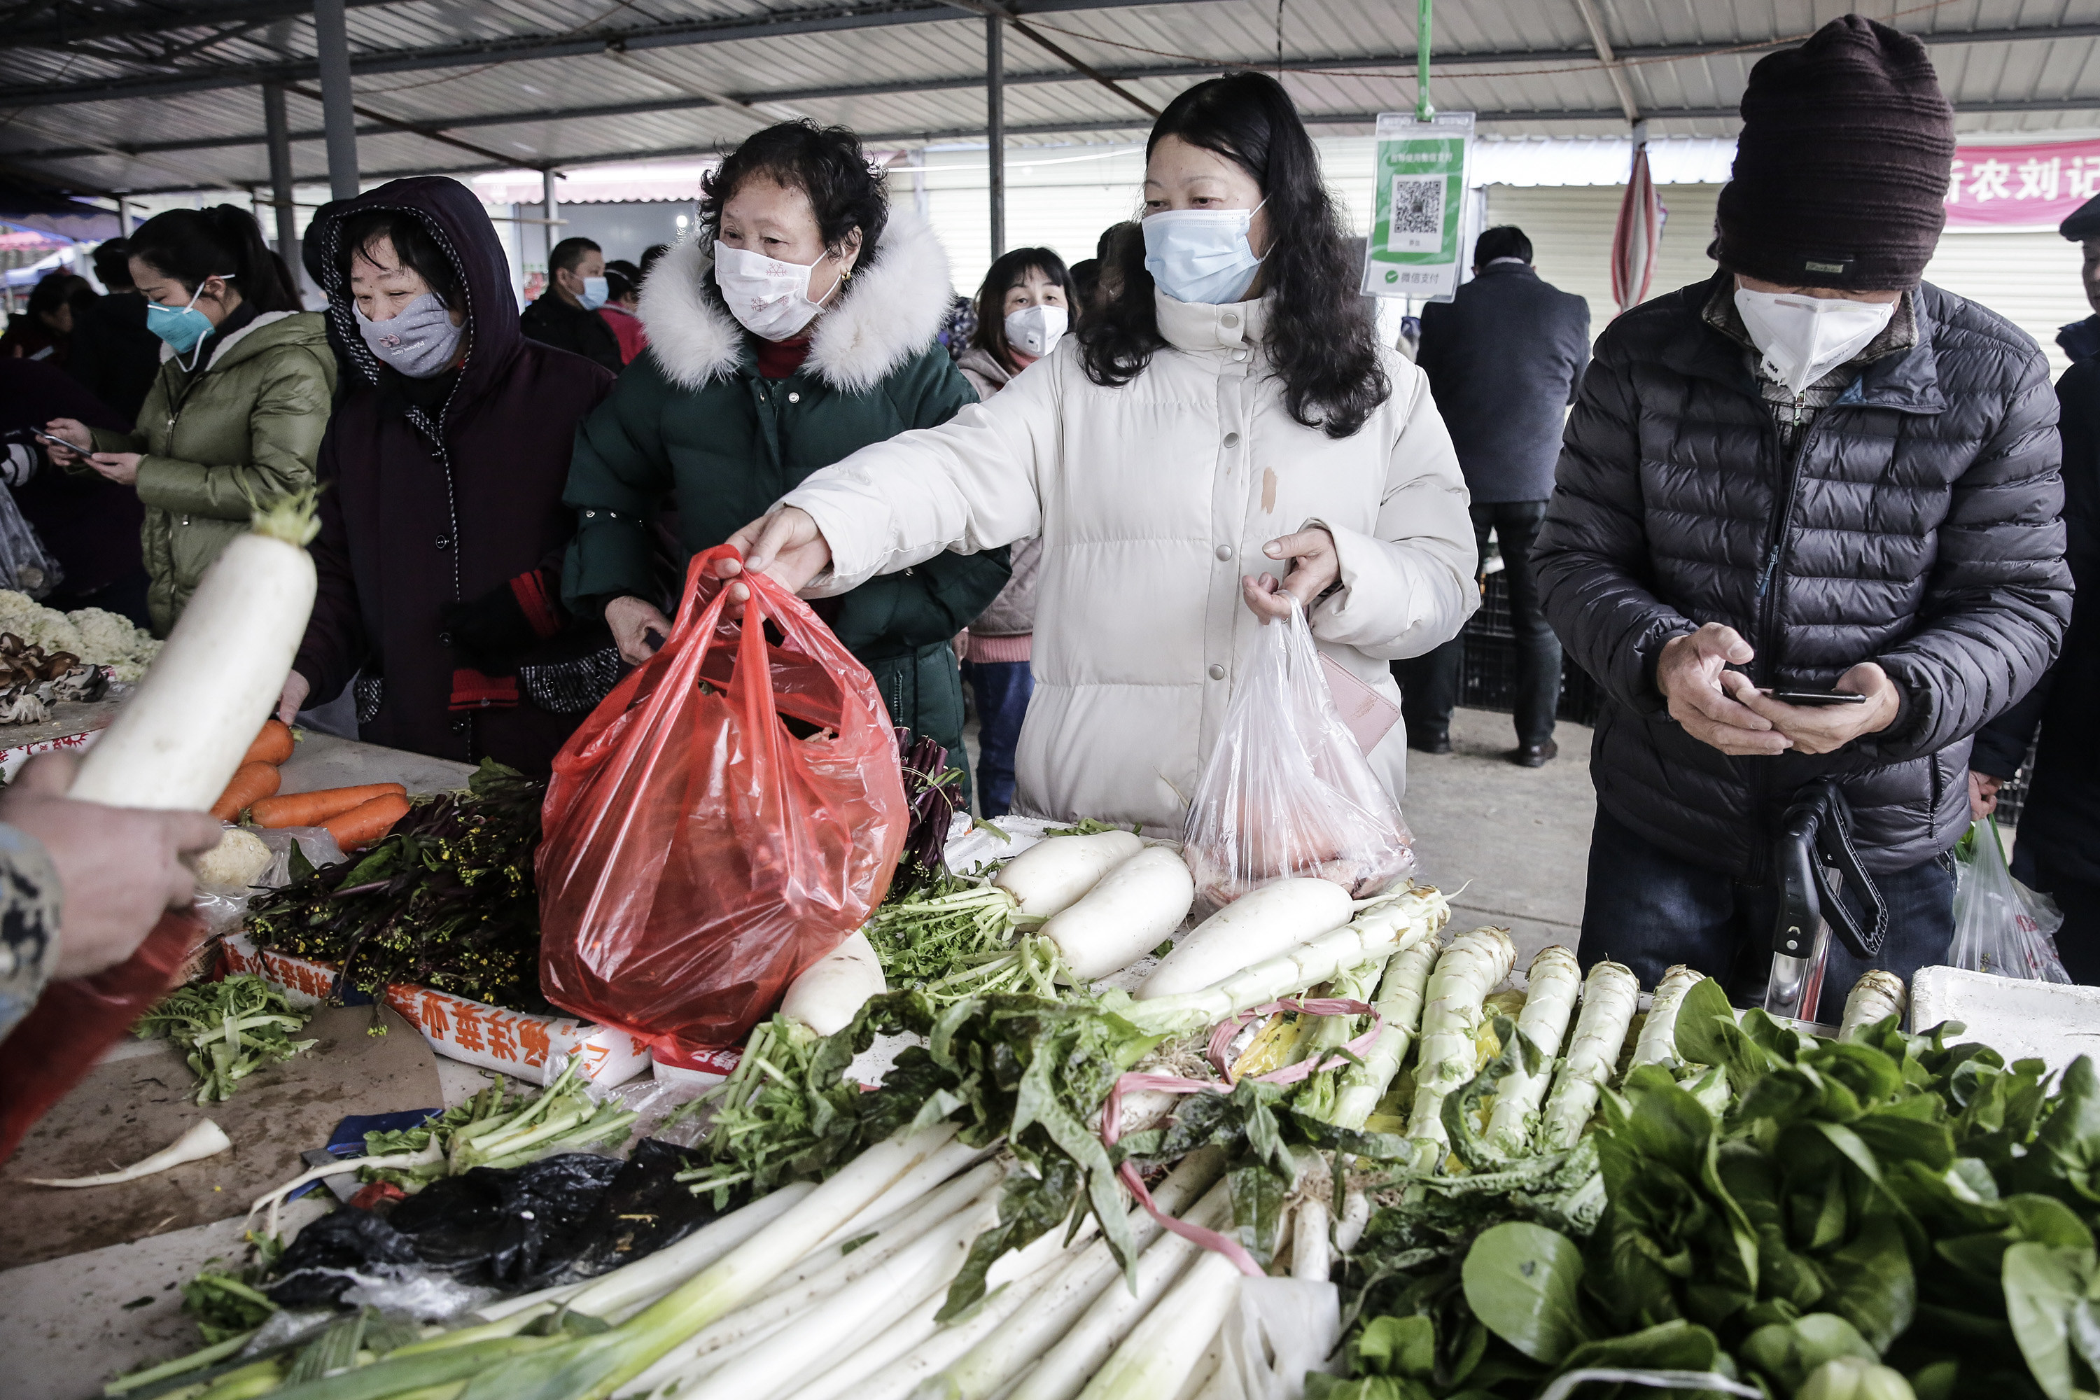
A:
[[[932,336],[947,311],[947,254],[892,212],[874,264],[819,321],[785,380],[758,374],[752,336],[714,294],[697,239],[643,292],[649,351],[584,420],[563,500],[578,512],[563,594],[575,611],[620,596],[662,602],[655,518],[676,512],[680,567],[773,508],[804,476],[976,401]],[[874,674],[897,724],[947,745],[964,772],[962,678],[949,644],[1006,584],[1006,550],[939,554],[819,604]]]

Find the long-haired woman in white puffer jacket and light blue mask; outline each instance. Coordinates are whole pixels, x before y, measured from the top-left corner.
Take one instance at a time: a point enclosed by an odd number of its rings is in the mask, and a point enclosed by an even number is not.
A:
[[[1378,344],[1319,157],[1260,73],[1182,92],[1147,143],[1142,267],[989,403],[808,476],[731,544],[813,596],[1042,535],[1014,810],[1178,835],[1258,628],[1306,604],[1373,695],[1478,607],[1472,521],[1428,382]],[[735,563],[722,567],[735,571]],[[741,594],[733,586],[733,594]],[[1384,701],[1384,703],[1380,703]],[[1390,724],[1376,735],[1378,724]]]

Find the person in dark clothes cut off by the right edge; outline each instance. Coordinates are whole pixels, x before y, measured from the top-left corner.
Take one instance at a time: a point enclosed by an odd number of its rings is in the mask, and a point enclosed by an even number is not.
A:
[[[2100,254],[2100,199],[2090,199],[2062,225],[2062,235],[2085,243],[2085,294],[2094,296],[2096,254]],[[2100,300],[2096,300],[2100,304]],[[2033,695],[1991,720],[1976,735],[1970,756],[1970,791],[1978,816],[1997,808],[1997,789],[2026,762],[2035,743],[2035,768],[2020,808],[2020,840],[2012,852],[2012,873],[2056,900],[2064,926],[2056,930],[2056,951],[2073,978],[2100,987],[2100,726],[2094,697],[2100,695],[2100,317],[2066,325],[2066,336],[2092,325],[2094,353],[2056,380],[2064,439],[2064,531],[2077,596],[2064,651]]]

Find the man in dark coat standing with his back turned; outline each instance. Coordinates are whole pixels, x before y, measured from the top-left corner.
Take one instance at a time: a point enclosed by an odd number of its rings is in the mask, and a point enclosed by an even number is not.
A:
[[[1590,302],[1531,269],[1522,229],[1489,229],[1472,246],[1472,281],[1451,302],[1422,309],[1415,363],[1430,376],[1436,411],[1451,428],[1472,493],[1472,533],[1487,560],[1487,533],[1502,548],[1516,636],[1516,751],[1525,768],[1550,762],[1560,705],[1560,640],[1539,613],[1531,546],[1546,521],[1560,460],[1560,426],[1590,363]],[[1480,573],[1487,581],[1487,573]],[[1466,636],[1428,655],[1394,661],[1407,747],[1451,751]]]

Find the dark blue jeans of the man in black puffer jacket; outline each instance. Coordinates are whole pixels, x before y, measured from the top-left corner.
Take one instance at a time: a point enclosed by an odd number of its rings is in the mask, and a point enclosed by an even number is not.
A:
[[[1947,961],[1955,938],[1955,877],[1940,858],[1873,877],[1888,905],[1888,936],[1871,963],[1852,955],[1831,930],[1816,1020],[1838,1024],[1852,982],[1869,968],[1886,968],[1909,987],[1911,976]],[[1858,913],[1856,890],[1846,907]],[[1762,1005],[1772,970],[1772,915],[1777,892],[1747,886],[1726,871],[1680,861],[1596,810],[1590,833],[1590,894],[1581,911],[1579,961],[1625,963],[1642,991],[1655,991],[1672,963],[1714,976],[1737,1005]]]

